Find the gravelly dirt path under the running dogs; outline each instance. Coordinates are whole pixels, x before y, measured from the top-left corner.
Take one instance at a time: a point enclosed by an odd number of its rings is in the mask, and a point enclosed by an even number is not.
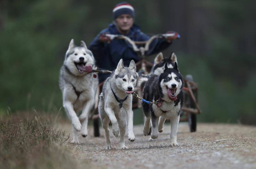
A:
[[[67,129],[69,124],[59,126]],[[68,128],[67,128],[68,127]],[[198,124],[197,132],[188,132],[188,124],[180,123],[178,147],[169,146],[170,125],[156,141],[142,135],[142,125],[134,126],[136,140],[126,138],[129,150],[119,149],[119,137],[111,131],[114,149],[105,150],[105,136],[81,137],[82,144],[69,144],[70,150],[90,168],[256,168],[256,127],[232,124]]]

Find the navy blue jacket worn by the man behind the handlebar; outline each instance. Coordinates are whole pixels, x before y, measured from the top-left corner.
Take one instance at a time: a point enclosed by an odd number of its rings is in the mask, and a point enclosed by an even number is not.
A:
[[[129,66],[130,61],[135,63],[139,61],[138,55],[133,51],[132,46],[124,39],[114,39],[110,43],[101,42],[99,37],[102,33],[120,34],[114,24],[108,25],[108,28],[102,30],[89,46],[99,68],[114,70],[120,59],[124,60],[124,66]],[[139,26],[133,24],[129,33],[126,35],[134,41],[146,41],[149,37],[140,31]],[[149,46],[146,55],[158,53],[170,45],[165,39],[155,39]],[[110,74],[99,74],[99,81],[104,81]]]

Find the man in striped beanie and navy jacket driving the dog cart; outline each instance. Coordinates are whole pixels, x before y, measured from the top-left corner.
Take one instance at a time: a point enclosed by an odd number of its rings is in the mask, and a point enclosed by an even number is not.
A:
[[[110,42],[110,39],[104,36],[104,34],[122,34],[134,41],[146,41],[149,39],[147,35],[140,31],[139,26],[134,24],[135,13],[132,5],[126,2],[117,4],[113,9],[113,18],[113,23],[108,28],[102,30],[89,46],[98,67],[111,71],[115,69],[120,59],[123,59],[124,66],[128,66],[131,60],[134,60],[136,63],[139,61],[139,58],[132,47],[123,39],[115,39]],[[146,54],[158,53],[167,48],[171,44],[171,40],[154,40]],[[109,75],[99,74],[99,82],[106,80]]]

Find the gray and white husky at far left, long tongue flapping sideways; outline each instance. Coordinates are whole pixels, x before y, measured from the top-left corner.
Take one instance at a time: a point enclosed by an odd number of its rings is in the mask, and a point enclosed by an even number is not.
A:
[[[89,73],[95,65],[93,54],[84,41],[76,46],[74,39],[69,43],[63,66],[60,69],[59,85],[62,91],[63,107],[72,123],[71,143],[79,144],[78,131],[86,137],[89,111],[97,104],[96,74]],[[77,117],[78,111],[82,114]],[[81,124],[82,123],[82,124]]]

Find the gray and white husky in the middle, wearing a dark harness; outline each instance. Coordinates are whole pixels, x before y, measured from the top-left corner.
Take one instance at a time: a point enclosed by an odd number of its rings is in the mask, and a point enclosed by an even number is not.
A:
[[[114,136],[118,137],[120,131],[121,149],[128,149],[124,144],[126,121],[128,123],[128,139],[133,142],[133,111],[132,93],[136,85],[138,74],[136,65],[132,60],[129,67],[124,67],[121,59],[116,70],[105,81],[100,94],[99,114],[102,127],[105,130],[106,149],[111,149],[108,123],[112,123]]]

